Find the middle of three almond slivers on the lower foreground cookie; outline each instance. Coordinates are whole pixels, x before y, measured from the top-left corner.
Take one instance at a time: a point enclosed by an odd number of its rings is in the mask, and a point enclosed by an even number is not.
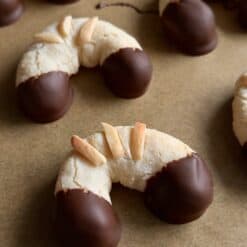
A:
[[[114,128],[108,123],[101,123],[101,124],[104,128],[106,140],[111,150],[113,158],[118,159],[123,157],[124,149],[116,128]]]

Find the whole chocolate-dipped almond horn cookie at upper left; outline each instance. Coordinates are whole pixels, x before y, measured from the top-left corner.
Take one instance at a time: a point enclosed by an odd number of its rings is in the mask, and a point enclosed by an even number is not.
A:
[[[51,122],[69,109],[70,76],[80,68],[100,67],[105,84],[117,96],[143,95],[152,65],[135,38],[98,17],[64,17],[34,35],[34,44],[18,65],[16,89],[22,111],[37,122]]]

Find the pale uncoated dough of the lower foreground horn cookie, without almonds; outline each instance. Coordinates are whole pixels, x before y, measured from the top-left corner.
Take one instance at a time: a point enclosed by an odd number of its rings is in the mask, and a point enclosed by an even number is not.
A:
[[[60,170],[55,193],[68,189],[84,189],[111,202],[109,193],[112,182],[143,192],[148,179],[161,171],[166,164],[194,153],[189,146],[175,137],[147,129],[143,157],[134,161],[130,151],[132,127],[119,126],[116,129],[126,155],[120,159],[112,159],[109,150],[106,150],[104,134],[89,136],[86,140],[89,143],[92,142],[90,140],[94,140],[92,145],[109,157],[107,163],[94,167],[81,155],[74,153]]]

